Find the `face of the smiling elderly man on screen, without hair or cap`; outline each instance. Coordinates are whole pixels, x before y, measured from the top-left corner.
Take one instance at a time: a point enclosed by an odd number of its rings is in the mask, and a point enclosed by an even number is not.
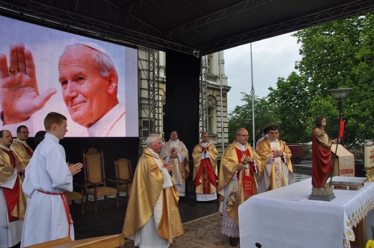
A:
[[[95,124],[110,110],[112,97],[109,76],[101,76],[92,52],[86,46],[73,46],[62,54],[58,63],[66,107],[73,121],[85,127]]]

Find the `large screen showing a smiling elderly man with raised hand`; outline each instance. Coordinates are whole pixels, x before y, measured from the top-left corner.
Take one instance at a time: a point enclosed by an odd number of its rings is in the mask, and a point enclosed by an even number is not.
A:
[[[136,48],[0,16],[0,54],[0,129],[32,137],[58,112],[67,137],[138,137]]]

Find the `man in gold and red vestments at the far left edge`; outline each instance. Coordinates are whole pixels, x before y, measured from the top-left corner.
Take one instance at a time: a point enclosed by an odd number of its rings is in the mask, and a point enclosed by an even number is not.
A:
[[[19,177],[21,164],[9,149],[12,135],[0,131],[0,247],[12,247],[21,241],[26,196]]]

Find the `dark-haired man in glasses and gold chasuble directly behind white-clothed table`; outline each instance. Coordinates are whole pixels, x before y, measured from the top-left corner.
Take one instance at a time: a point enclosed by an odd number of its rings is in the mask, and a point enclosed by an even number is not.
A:
[[[268,137],[256,147],[262,163],[258,173],[259,193],[286,186],[293,178],[290,148],[278,139],[277,125],[269,125],[267,129]]]

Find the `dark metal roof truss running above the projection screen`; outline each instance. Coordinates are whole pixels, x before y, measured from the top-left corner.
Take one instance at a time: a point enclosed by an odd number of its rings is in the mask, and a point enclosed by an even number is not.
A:
[[[79,0],[78,0],[79,1]],[[77,1],[77,2],[78,2]],[[73,10],[62,10],[47,4],[32,0],[0,0],[0,13],[11,17],[17,17],[40,25],[78,33],[94,37],[109,42],[115,42],[125,45],[143,45],[157,50],[165,51],[166,48],[192,54],[193,49],[179,44],[173,40],[167,40],[165,35],[156,31],[149,25],[145,25],[141,20],[133,17],[133,21],[145,28],[144,32],[135,31],[121,26],[120,20],[129,19],[128,14],[118,7],[108,4],[106,0],[97,0],[104,2],[104,6],[110,8],[109,11],[116,17],[116,24],[97,20],[93,17],[87,17],[73,12]],[[68,9],[68,8],[67,8]],[[119,11],[119,12],[118,12]],[[122,24],[123,25],[123,24]]]

